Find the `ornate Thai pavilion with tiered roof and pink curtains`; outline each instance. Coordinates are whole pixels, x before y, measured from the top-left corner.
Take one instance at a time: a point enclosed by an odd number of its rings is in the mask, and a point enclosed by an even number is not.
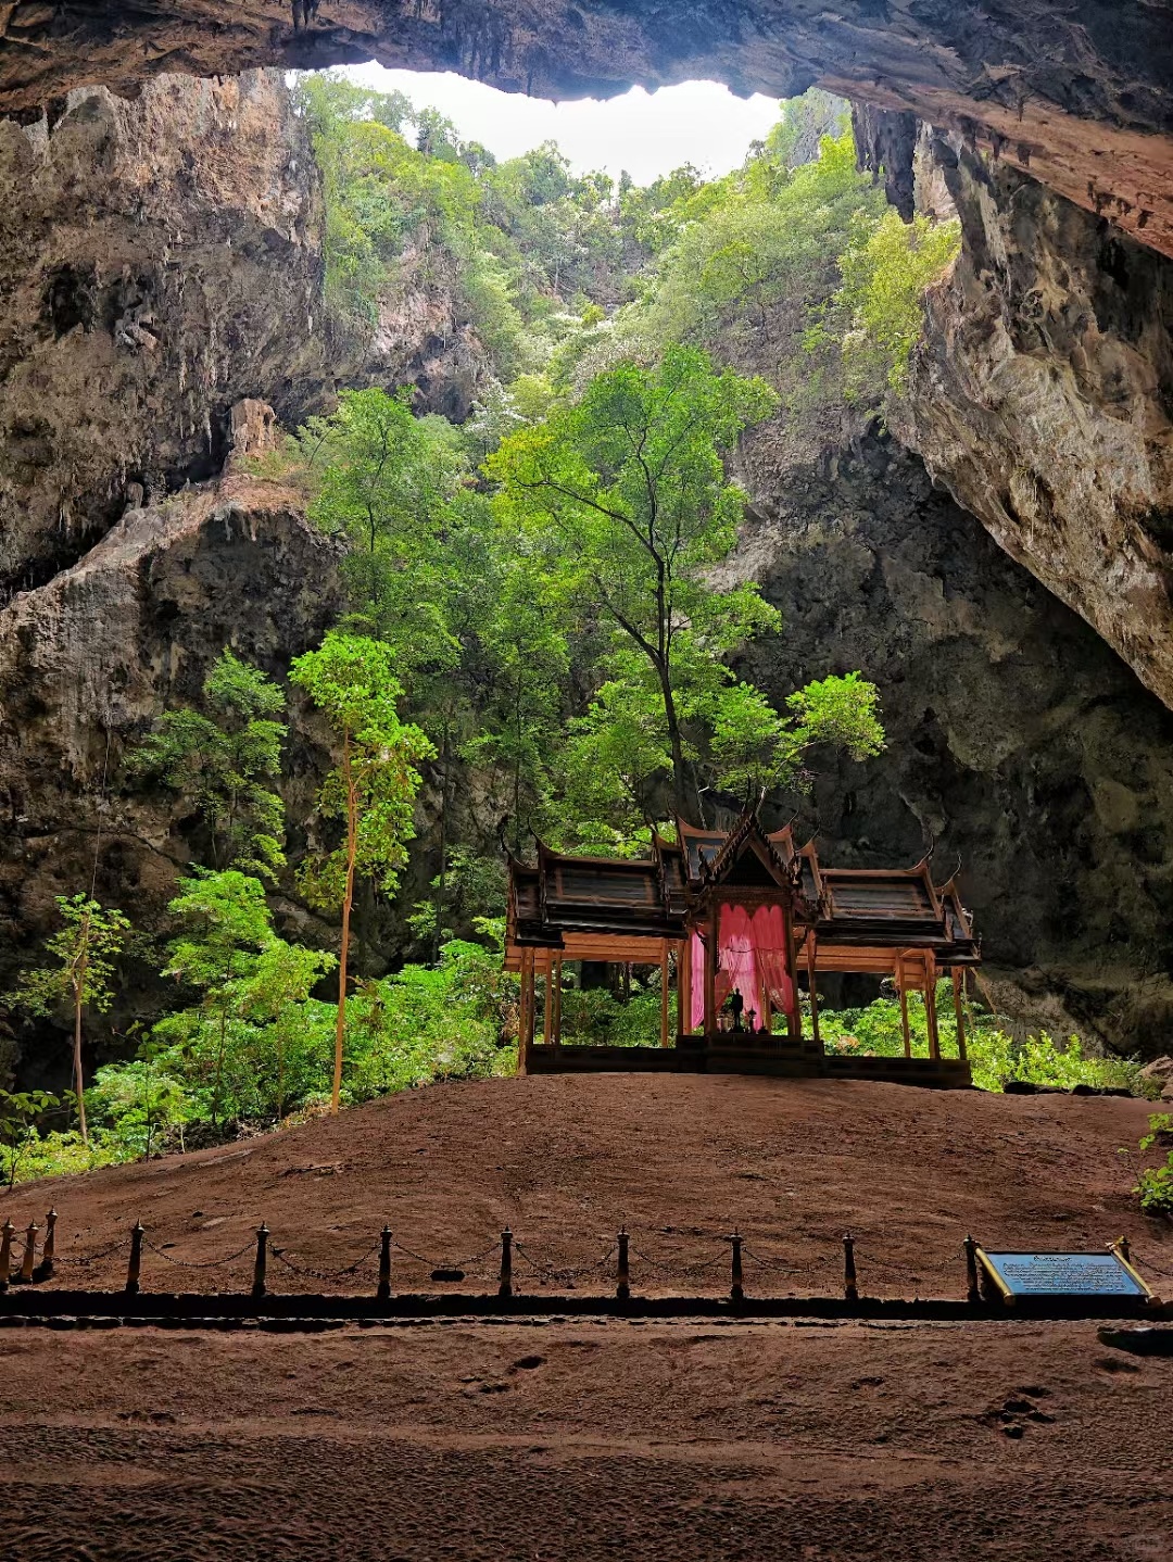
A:
[[[661,1045],[562,1045],[567,961],[659,965]],[[814,842],[798,848],[790,826],[764,831],[751,809],[731,831],[681,823],[676,842],[653,837],[644,859],[565,856],[539,842],[536,864],[509,862],[506,968],[522,976],[522,1072],[662,1068],[964,1087],[970,1067],[959,982],[978,964],[956,883],[934,886],[928,859],[911,868],[823,867]],[[892,978],[903,1057],[823,1051],[815,992],[823,972]],[[947,973],[956,1057],[942,1057],[937,1029],[936,989]],[[808,1029],[800,979],[809,993]],[[911,990],[925,998],[928,1056],[914,1056]]]

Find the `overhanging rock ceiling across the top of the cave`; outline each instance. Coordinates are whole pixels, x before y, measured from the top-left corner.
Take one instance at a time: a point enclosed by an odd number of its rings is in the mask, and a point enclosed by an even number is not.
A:
[[[1173,255],[1173,0],[0,0],[0,111],[380,59],[544,95],[818,81],[962,131]]]

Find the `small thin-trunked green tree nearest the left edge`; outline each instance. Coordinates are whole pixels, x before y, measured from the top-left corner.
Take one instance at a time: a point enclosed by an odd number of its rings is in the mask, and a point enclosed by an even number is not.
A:
[[[64,928],[45,940],[45,953],[55,964],[23,972],[16,989],[8,993],[8,1001],[34,1015],[72,1011],[73,1092],[81,1140],[89,1143],[81,1072],[81,1015],[84,1009],[105,1014],[114,1001],[111,987],[114,961],[127,942],[130,920],[120,911],[106,908],[89,895],[58,895],[56,906]]]

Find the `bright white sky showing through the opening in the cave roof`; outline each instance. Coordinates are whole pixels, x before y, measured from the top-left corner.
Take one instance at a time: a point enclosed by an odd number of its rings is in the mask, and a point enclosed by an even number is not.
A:
[[[623,97],[550,103],[520,92],[498,92],[483,81],[451,73],[350,66],[351,81],[380,92],[406,92],[415,108],[437,108],[465,141],[480,141],[497,158],[515,158],[544,141],[556,141],[576,173],[626,169],[637,184],[692,162],[706,173],[728,173],[750,142],[778,120],[778,102],[737,98],[715,81],[684,81]]]

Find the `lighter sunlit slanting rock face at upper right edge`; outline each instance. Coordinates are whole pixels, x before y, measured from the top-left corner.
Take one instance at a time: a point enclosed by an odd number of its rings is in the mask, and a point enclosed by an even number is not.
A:
[[[1173,706],[1173,262],[934,137],[964,230],[901,434]]]

